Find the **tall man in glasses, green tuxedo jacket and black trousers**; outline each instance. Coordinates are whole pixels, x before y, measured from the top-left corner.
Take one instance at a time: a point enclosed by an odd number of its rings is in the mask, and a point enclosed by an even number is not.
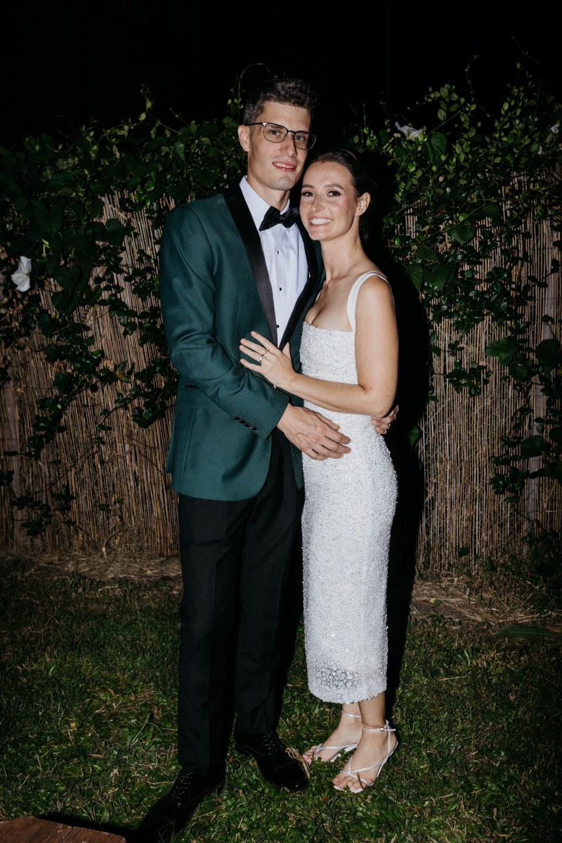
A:
[[[179,492],[184,580],[182,770],[142,822],[142,840],[154,843],[222,788],[232,689],[238,750],[277,787],[308,784],[276,733],[283,595],[302,507],[301,452],[345,459],[350,440],[245,370],[238,346],[255,329],[280,347],[288,341],[299,364],[321,261],[289,193],[313,146],[313,107],[300,80],[270,80],[250,94],[238,126],[247,176],[224,196],[177,207],[164,226],[163,321],[179,372],[167,468]]]

